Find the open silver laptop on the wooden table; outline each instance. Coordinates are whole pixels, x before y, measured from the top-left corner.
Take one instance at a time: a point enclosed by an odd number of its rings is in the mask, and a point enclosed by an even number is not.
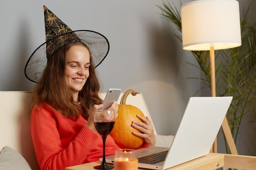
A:
[[[139,168],[164,170],[207,155],[220,130],[233,97],[190,97],[180,126],[170,148],[148,147],[137,150]],[[163,161],[154,161],[152,154],[166,152]],[[145,156],[150,155],[147,160]],[[141,159],[141,157],[144,157]],[[160,156],[156,156],[159,158]],[[102,159],[100,159],[102,160]],[[140,160],[145,161],[141,163]],[[106,157],[107,163],[114,156]]]

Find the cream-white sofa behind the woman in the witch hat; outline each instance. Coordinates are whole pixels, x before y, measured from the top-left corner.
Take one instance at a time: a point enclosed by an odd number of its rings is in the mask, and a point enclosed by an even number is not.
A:
[[[101,93],[102,98],[105,95],[106,93]],[[119,101],[121,96],[122,94],[119,97]],[[0,151],[4,146],[9,146],[25,158],[32,170],[39,170],[30,135],[30,114],[28,109],[30,99],[31,92],[29,91],[0,91]],[[145,116],[150,117],[142,94],[138,94],[135,97],[129,95],[126,104],[138,107]],[[169,147],[171,145],[173,136],[157,135],[155,127],[154,132],[157,139],[156,146]],[[3,155],[2,152],[0,153],[0,170],[2,170],[1,161],[4,161],[3,159],[11,161],[13,158],[11,154],[9,155],[10,159],[6,155],[2,157],[1,155]],[[15,161],[14,158],[13,161]],[[3,168],[3,170],[7,169]]]

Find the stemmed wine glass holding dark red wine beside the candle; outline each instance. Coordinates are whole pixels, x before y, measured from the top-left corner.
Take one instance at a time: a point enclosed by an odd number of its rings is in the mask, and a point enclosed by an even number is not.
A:
[[[94,166],[98,170],[110,170],[113,166],[108,166],[105,159],[105,143],[106,138],[112,131],[115,124],[114,110],[95,110],[94,112],[94,126],[97,132],[101,135],[103,140],[103,159],[99,166]]]

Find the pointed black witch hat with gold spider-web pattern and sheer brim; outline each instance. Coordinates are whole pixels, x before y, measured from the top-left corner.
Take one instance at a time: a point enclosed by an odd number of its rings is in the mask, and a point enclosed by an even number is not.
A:
[[[72,31],[52,11],[44,6],[46,42],[40,45],[29,57],[25,66],[25,76],[32,82],[38,82],[52,54],[66,43],[80,41],[91,51],[95,67],[99,66],[109,51],[107,38],[95,31]]]

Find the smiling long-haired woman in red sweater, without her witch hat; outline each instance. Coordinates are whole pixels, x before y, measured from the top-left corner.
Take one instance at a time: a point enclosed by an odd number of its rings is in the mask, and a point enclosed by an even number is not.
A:
[[[93,122],[94,110],[102,107],[99,80],[91,50],[73,33],[54,48],[54,41],[48,41],[47,65],[33,91],[31,136],[41,170],[64,170],[98,161],[103,155],[103,142]],[[117,102],[109,109],[117,116]],[[133,134],[144,138],[142,147],[154,146],[150,120],[139,119],[142,123],[133,121],[132,126],[142,133]],[[116,149],[119,147],[108,136],[106,156],[114,155]]]

